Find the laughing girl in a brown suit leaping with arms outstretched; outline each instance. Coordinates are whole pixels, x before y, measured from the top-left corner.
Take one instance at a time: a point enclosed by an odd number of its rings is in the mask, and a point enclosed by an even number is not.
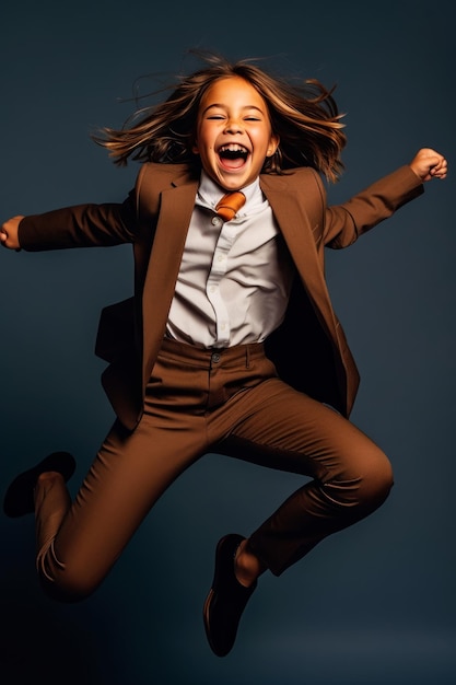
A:
[[[14,217],[0,237],[17,251],[132,244],[135,295],[104,310],[96,349],[109,362],[103,384],[117,418],[73,502],[74,462],[59,452],[13,480],[4,512],[35,512],[43,587],[77,601],[204,453],[302,474],[248,537],[218,544],[203,618],[223,657],[262,572],[280,576],[389,492],[387,457],[348,418],[359,376],[324,247],[352,244],[447,165],[420,150],[327,207],[320,175],[337,178],[346,142],[331,93],[221,58],[96,141],[118,164],[143,162],[125,202]],[[219,209],[231,191],[237,205]]]

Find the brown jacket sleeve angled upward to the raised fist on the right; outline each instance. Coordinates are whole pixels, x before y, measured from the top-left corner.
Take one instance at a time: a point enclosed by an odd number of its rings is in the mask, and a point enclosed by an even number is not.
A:
[[[336,249],[348,247],[423,191],[422,182],[410,166],[401,166],[347,202],[327,208],[325,245]]]

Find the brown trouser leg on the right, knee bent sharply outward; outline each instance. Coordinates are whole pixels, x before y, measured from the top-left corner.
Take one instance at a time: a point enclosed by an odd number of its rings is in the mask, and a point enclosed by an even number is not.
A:
[[[332,409],[270,380],[242,397],[237,411],[245,418],[220,452],[312,478],[249,538],[250,550],[274,574],[386,499],[393,485],[389,461]]]

